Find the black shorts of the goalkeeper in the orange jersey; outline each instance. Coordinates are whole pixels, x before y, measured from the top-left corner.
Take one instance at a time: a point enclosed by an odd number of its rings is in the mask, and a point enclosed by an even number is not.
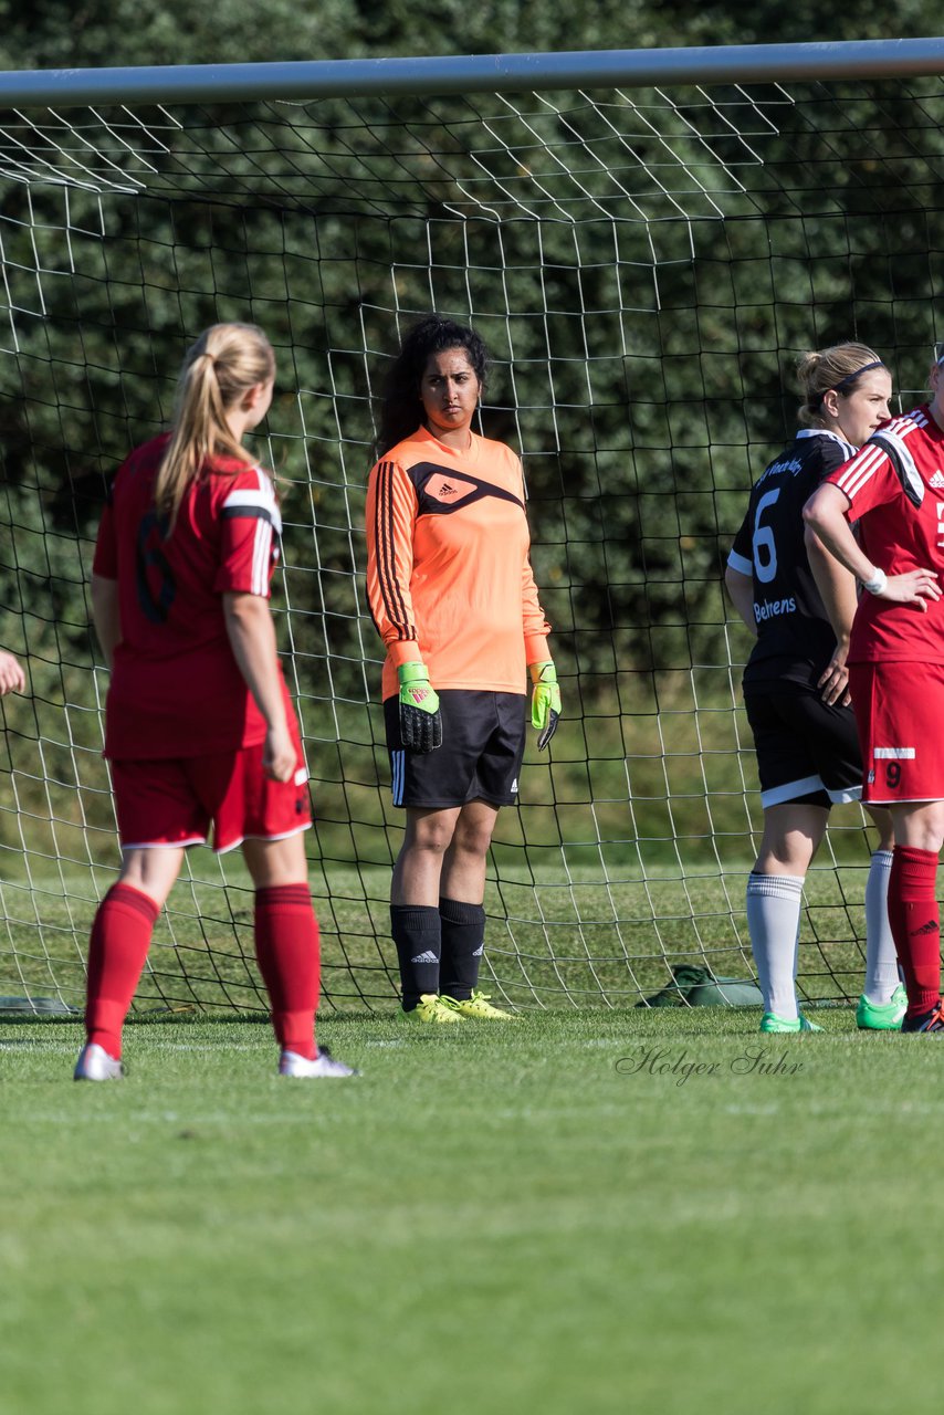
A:
[[[447,688],[439,695],[443,744],[408,751],[401,741],[399,702],[384,703],[393,805],[427,809],[488,801],[512,805],[525,754],[525,693],[483,693]]]

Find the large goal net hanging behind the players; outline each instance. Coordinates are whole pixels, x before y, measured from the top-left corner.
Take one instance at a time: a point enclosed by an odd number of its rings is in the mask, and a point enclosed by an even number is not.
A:
[[[324,998],[392,1006],[401,815],[364,497],[385,369],[433,308],[493,355],[483,430],[524,458],[565,705],[500,815],[485,988],[620,1006],[678,964],[749,976],[761,814],[722,570],[795,426],[802,351],[863,340],[903,406],[924,386],[941,81],[156,105],[133,78],[122,102],[0,112],[0,645],[30,676],[0,705],[7,1006],[82,1002],[119,860],[95,526],[218,320],[259,323],[279,359],[259,454],[283,495],[275,606],[313,778]],[[807,882],[807,998],[860,989],[869,849],[859,809],[836,809]],[[236,857],[190,852],[137,1006],[263,1006]]]

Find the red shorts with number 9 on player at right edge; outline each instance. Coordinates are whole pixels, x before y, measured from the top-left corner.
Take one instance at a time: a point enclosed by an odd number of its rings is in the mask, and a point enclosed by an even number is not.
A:
[[[851,664],[849,692],[862,799],[944,801],[944,664]]]

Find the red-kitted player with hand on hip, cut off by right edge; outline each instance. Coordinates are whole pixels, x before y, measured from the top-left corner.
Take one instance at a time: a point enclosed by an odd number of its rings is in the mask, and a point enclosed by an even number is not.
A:
[[[909,996],[902,1030],[928,1034],[944,1034],[936,891],[944,842],[944,352],[938,355],[930,403],[879,429],[804,511],[865,591],[848,659],[863,799],[887,805],[894,825],[889,920]]]

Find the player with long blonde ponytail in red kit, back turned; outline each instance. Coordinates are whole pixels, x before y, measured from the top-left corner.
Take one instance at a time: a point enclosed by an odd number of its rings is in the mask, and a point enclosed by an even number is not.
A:
[[[122,869],[99,904],[76,1081],[122,1075],[122,1027],[184,849],[242,846],[259,971],[294,1077],[351,1075],[314,1043],[318,925],[303,832],[307,770],[269,580],[282,522],[242,447],[272,402],[262,330],[215,324],[188,351],[170,433],[122,464],[102,515],[92,611],[112,681],[105,756]]]

